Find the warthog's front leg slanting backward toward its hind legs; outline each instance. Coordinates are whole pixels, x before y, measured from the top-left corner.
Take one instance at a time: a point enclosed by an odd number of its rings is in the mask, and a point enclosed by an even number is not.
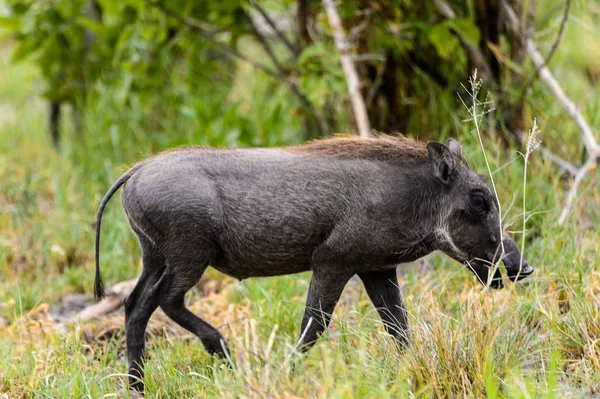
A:
[[[303,351],[310,349],[329,325],[335,305],[351,277],[331,269],[313,270],[298,341]]]

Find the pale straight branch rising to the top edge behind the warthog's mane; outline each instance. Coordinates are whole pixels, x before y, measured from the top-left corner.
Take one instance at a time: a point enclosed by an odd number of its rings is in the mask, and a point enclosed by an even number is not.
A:
[[[334,0],[322,0],[323,7],[327,13],[329,25],[333,29],[333,39],[340,53],[340,62],[346,75],[346,83],[348,84],[348,92],[350,93],[350,101],[352,102],[352,110],[354,118],[361,137],[371,137],[371,125],[369,124],[369,116],[365,107],[365,100],[360,92],[360,80],[352,61],[350,54],[350,45],[344,35],[342,22],[337,12]]]

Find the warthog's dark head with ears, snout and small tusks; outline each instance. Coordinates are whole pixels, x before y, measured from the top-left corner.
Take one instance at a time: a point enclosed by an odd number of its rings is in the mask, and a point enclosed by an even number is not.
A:
[[[460,144],[427,144],[433,175],[445,187],[436,226],[437,247],[464,263],[484,284],[502,288],[496,263],[502,260],[511,281],[533,273],[521,259],[514,240],[503,232],[494,194],[481,176],[467,166]]]

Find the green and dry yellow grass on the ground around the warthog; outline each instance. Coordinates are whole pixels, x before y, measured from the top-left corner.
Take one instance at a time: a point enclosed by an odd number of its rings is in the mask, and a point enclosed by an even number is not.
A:
[[[552,68],[600,131],[600,89],[581,72],[600,63],[575,53],[579,40],[588,47],[600,42],[586,33],[593,16],[578,18],[583,22],[569,25],[561,46],[568,50],[558,52]],[[100,197],[126,165],[160,149],[295,143],[300,127],[286,111],[285,92],[271,90],[268,105],[261,102],[261,81],[190,100],[155,118],[143,107],[107,117],[107,110],[119,109],[107,89],[90,106],[86,135],[67,137],[59,155],[46,135],[37,71],[10,64],[11,49],[0,45],[0,397],[127,397],[122,315],[64,325],[49,315],[68,293],[91,296]],[[236,79],[247,81],[248,73],[240,67]],[[543,144],[578,159],[574,124],[542,85],[532,97],[531,120],[538,117]],[[470,130],[449,122],[443,131],[459,137],[471,164],[484,172]],[[237,282],[210,271],[203,284],[213,289],[197,290],[187,300],[228,339],[235,367],[209,357],[159,311],[149,329],[148,397],[598,397],[600,172],[582,185],[571,220],[560,227],[564,176],[532,154],[524,197],[521,157],[493,136],[484,140],[515,240],[527,210],[524,253],[536,268],[533,276],[490,291],[443,256],[432,257],[429,270],[406,266],[399,284],[413,343],[405,353],[384,334],[362,287],[351,285],[331,328],[300,361],[294,344],[309,274]],[[107,284],[136,277],[139,249],[116,202],[104,220]]]

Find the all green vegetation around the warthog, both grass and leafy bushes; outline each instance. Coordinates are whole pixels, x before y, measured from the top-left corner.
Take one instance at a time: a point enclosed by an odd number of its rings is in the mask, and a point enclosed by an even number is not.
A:
[[[55,320],[56,304],[66,295],[91,297],[93,223],[105,190],[127,165],[162,149],[186,144],[297,144],[307,136],[307,128],[315,128],[315,121],[306,116],[306,104],[278,79],[243,60],[224,58],[217,46],[192,29],[180,29],[177,21],[144,1],[100,2],[115,7],[105,7],[102,26],[89,18],[65,17],[69,12],[79,15],[82,1],[8,3],[35,5],[23,8],[22,15],[50,13],[60,29],[55,25],[44,31],[35,19],[30,25],[27,18],[0,20],[0,398],[127,397],[122,314],[86,323]],[[268,58],[257,37],[246,34],[247,25],[236,32],[245,21],[238,11],[248,8],[233,1],[206,3],[222,5],[208,13],[214,18],[209,22],[228,29],[220,42],[253,59]],[[559,5],[553,0],[537,3],[542,11]],[[182,15],[204,18],[200,6],[169,4]],[[290,6],[260,4],[272,11]],[[319,19],[318,3],[312,6],[315,24],[326,26]],[[469,12],[453,6],[457,12]],[[576,1],[571,8],[572,18],[551,66],[598,132],[600,10],[593,1]],[[355,10],[340,11],[348,20]],[[38,17],[47,20],[44,15]],[[560,19],[559,13],[541,11],[535,17],[536,26],[547,29],[538,29],[535,37],[545,51],[552,46]],[[476,24],[476,30],[466,22],[460,28],[440,24],[446,28],[436,29],[463,29],[467,36],[478,32]],[[60,35],[52,39],[57,32],[76,41],[84,28],[94,30],[105,46],[95,47],[93,56],[81,58],[51,47],[62,40]],[[327,110],[335,115],[335,121],[326,121],[330,130],[349,132],[353,125],[344,78],[327,30],[318,32],[319,40],[304,43],[300,68],[286,65],[284,70],[298,74],[299,87],[319,117],[328,115]],[[405,46],[408,41],[403,38],[385,45]],[[23,50],[28,41],[29,52]],[[429,45],[447,51],[436,47],[435,40]],[[285,58],[283,46],[275,46],[275,51]],[[416,53],[435,64],[420,51]],[[399,63],[404,54],[398,52]],[[463,56],[456,55],[459,60]],[[454,57],[448,55],[449,60]],[[95,70],[94,63],[102,68]],[[67,64],[84,67],[78,71]],[[467,81],[472,65],[465,59],[458,66],[444,70],[455,84],[442,87],[426,74],[411,72],[415,87],[409,97],[402,97],[403,104],[411,104],[410,123],[403,131],[436,140],[458,138],[469,162],[486,173],[477,134],[464,122],[469,113],[456,96],[458,82]],[[506,76],[514,71],[511,67],[517,68],[502,64]],[[404,71],[398,68],[399,74]],[[526,76],[533,69],[527,63],[522,68]],[[81,70],[90,74],[84,77],[89,86],[75,95],[80,87],[71,82],[81,77],[70,77]],[[57,71],[66,75],[55,75]],[[496,84],[508,85],[507,79]],[[489,85],[496,105],[504,107]],[[46,99],[75,104],[83,119],[79,132],[73,119],[63,119],[60,151],[52,148],[47,133]],[[537,118],[545,147],[565,159],[581,158],[577,126],[542,84],[533,84],[523,104],[525,124],[531,126]],[[372,112],[370,117],[377,121]],[[495,119],[498,114],[493,114]],[[329,331],[300,360],[294,344],[309,276],[237,282],[211,271],[187,300],[229,340],[235,366],[230,369],[210,358],[198,340],[188,339],[187,332],[159,311],[149,334],[148,397],[599,395],[600,172],[595,170],[582,183],[570,220],[558,226],[569,175],[535,151],[529,155],[524,192],[523,157],[506,146],[496,127],[484,120],[483,142],[505,223],[519,242],[523,214],[527,219],[524,253],[536,267],[533,276],[490,291],[444,256],[428,258],[430,266],[425,268],[403,266],[399,284],[413,337],[405,353],[397,352],[362,287],[354,284],[346,289]],[[141,270],[137,242],[115,204],[108,207],[103,223],[102,268],[109,286],[135,278]]]

